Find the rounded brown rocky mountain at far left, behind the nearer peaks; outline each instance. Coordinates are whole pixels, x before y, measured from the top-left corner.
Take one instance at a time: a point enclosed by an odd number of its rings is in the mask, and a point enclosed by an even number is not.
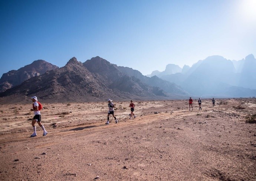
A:
[[[24,80],[42,75],[48,70],[54,70],[57,68],[59,67],[52,65],[45,60],[36,60],[18,70],[10,70],[9,72],[4,73],[0,79],[0,92],[4,92],[13,86],[19,85],[24,82]]]

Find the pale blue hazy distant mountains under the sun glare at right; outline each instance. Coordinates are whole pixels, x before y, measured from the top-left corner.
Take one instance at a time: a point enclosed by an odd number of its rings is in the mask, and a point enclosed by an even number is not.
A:
[[[157,76],[180,85],[191,95],[249,97],[256,96],[255,70],[256,59],[252,54],[238,61],[209,56],[191,68],[185,65],[180,72],[170,74],[165,70]],[[155,71],[152,74],[155,75]]]

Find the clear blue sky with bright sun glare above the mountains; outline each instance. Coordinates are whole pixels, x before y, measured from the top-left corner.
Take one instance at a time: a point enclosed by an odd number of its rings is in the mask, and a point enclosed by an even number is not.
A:
[[[256,56],[256,0],[0,0],[0,76],[100,56],[143,75]]]

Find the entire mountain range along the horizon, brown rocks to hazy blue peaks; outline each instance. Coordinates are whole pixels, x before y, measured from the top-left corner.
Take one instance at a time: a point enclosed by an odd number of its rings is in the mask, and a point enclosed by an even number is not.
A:
[[[34,95],[48,102],[249,97],[256,95],[255,69],[252,54],[239,61],[210,56],[182,69],[169,64],[150,77],[98,56],[84,63],[73,57],[62,68],[36,60],[3,74],[0,101],[9,97],[22,101]]]

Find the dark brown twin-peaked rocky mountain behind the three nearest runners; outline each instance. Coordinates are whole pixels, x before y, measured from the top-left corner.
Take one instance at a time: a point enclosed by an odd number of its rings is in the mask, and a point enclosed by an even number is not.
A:
[[[100,57],[84,63],[73,57],[62,68],[34,76],[0,93],[0,101],[8,97],[12,98],[9,102],[22,101],[33,95],[44,102],[167,99],[163,90],[120,72],[116,65]]]

